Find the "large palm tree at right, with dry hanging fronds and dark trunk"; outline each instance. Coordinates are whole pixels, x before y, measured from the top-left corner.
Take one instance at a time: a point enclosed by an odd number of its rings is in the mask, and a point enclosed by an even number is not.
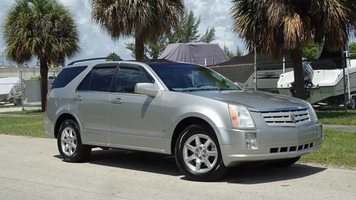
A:
[[[306,99],[302,70],[302,48],[325,43],[329,51],[340,51],[355,34],[354,0],[235,0],[230,9],[235,33],[245,38],[252,51],[293,60],[295,96]]]

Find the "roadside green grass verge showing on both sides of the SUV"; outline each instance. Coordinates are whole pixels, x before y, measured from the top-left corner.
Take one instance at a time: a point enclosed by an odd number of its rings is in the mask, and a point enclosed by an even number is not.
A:
[[[0,117],[0,134],[49,137],[44,133],[44,120],[21,117]],[[356,132],[324,130],[322,148],[303,156],[300,162],[356,167]]]

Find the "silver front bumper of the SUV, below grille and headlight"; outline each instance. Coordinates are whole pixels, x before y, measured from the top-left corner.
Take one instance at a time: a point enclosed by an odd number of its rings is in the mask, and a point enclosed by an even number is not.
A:
[[[241,162],[300,157],[322,145],[322,124],[310,122],[300,127],[260,127],[257,130],[216,128],[225,166]],[[246,147],[246,133],[256,133],[258,149]]]

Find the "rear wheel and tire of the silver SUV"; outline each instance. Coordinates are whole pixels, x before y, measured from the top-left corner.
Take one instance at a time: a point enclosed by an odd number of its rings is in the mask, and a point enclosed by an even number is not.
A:
[[[59,153],[66,162],[83,162],[91,154],[91,147],[81,143],[79,127],[73,120],[64,120],[57,136]]]

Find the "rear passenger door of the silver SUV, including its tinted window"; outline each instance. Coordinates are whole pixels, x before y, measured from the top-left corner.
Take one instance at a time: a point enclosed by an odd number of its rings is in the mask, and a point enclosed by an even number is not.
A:
[[[93,67],[71,96],[71,111],[81,122],[84,144],[108,146],[111,85],[117,63]]]

